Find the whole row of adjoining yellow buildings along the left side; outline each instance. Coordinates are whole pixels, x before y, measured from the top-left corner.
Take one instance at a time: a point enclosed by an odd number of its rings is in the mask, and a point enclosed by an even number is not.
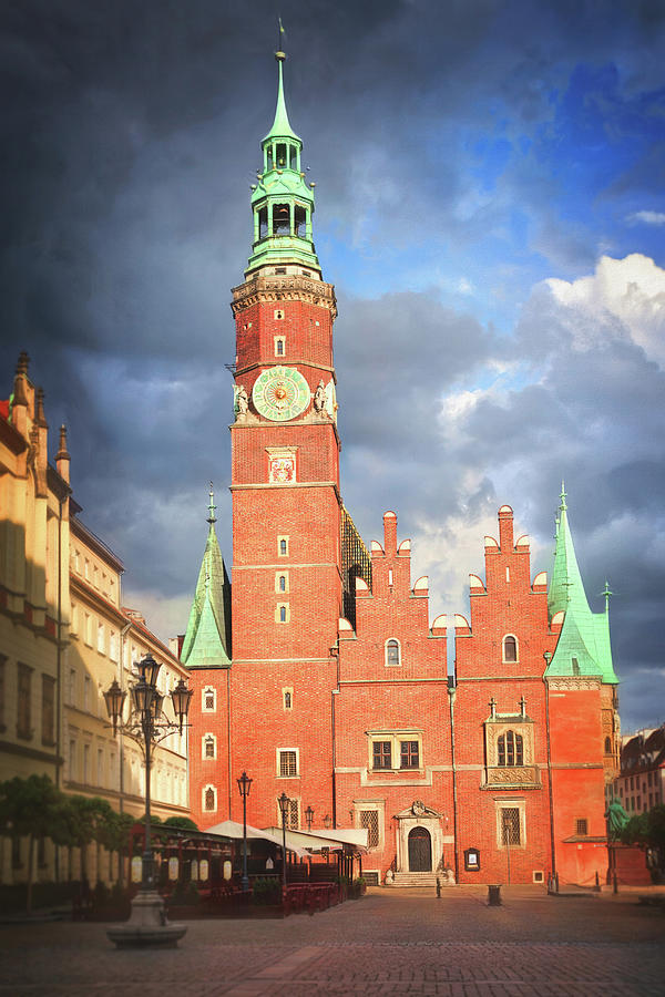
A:
[[[79,518],[69,466],[64,428],[55,469],[48,462],[43,394],[22,353],[13,393],[0,402],[0,781],[47,774],[64,792],[140,816],[142,752],[113,734],[103,692],[113,679],[129,689],[146,654],[162,665],[163,695],[188,674],[139,611],[123,609],[122,563]],[[151,783],[156,815],[188,815],[186,730],[160,743]],[[25,880],[27,841],[0,846],[0,882]],[[81,856],[58,855],[45,841],[35,865],[33,878],[78,878]],[[89,850],[86,872],[91,882],[115,874],[99,849]]]

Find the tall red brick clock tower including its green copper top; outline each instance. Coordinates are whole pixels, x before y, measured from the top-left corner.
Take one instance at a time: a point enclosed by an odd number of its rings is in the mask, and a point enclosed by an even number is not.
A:
[[[276,53],[275,121],[252,186],[252,255],[232,305],[229,777],[246,769],[254,780],[248,820],[260,826],[278,823],[283,792],[293,826],[307,806],[332,812],[331,649],[342,607],[335,290],[313,241],[314,184],[288,120],[285,58]]]

